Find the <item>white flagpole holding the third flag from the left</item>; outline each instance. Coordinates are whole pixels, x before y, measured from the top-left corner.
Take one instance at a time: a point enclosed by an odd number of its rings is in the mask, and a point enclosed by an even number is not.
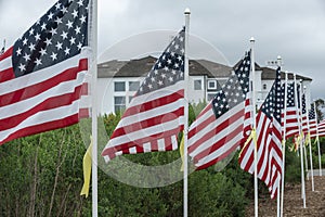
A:
[[[253,56],[255,38],[250,38],[250,67],[251,67],[251,98],[252,98],[252,129],[256,128],[256,85],[255,85],[255,56]],[[253,138],[255,140],[255,138]],[[255,143],[255,142],[253,142]],[[259,192],[258,192],[258,150],[257,145],[253,144],[253,191],[255,191],[255,216],[259,216]]]

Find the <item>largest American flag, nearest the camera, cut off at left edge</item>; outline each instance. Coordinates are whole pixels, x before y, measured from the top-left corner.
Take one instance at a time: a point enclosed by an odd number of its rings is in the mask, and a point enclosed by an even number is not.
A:
[[[0,55],[0,144],[78,123],[88,0],[60,0]]]

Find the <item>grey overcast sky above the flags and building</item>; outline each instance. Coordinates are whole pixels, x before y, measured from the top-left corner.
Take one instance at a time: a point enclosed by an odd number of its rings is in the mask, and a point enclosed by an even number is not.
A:
[[[312,99],[325,98],[324,0],[98,0],[99,53],[130,36],[179,30],[191,10],[192,35],[219,50],[231,65],[256,38],[256,61],[281,55],[283,69],[313,79]],[[55,0],[0,0],[0,46],[24,34]]]

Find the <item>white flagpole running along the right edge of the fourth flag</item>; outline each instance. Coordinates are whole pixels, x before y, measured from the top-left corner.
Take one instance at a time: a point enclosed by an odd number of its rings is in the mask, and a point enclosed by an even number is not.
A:
[[[283,125],[283,140],[282,140],[282,178],[281,178],[281,214],[280,216],[283,217],[283,202],[284,202],[284,184],[285,184],[285,161],[286,161],[286,135],[287,135],[287,98],[288,98],[288,73],[285,72],[285,95],[284,95],[284,125]]]

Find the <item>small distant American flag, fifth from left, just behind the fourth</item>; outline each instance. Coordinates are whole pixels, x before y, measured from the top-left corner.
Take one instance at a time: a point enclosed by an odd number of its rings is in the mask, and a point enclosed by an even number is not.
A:
[[[283,85],[282,92],[285,91],[285,85]],[[284,117],[284,113],[286,112],[286,139],[290,137],[295,137],[295,135],[299,135],[299,112],[298,106],[296,105],[295,99],[295,82],[287,84],[287,108],[283,110],[282,117]]]

